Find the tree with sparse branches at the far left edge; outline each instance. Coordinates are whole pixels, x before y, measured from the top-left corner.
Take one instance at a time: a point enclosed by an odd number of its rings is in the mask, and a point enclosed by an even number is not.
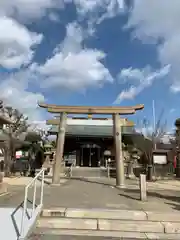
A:
[[[27,122],[28,118],[17,109],[3,107],[1,112],[12,121],[12,124],[8,124],[3,128],[3,132],[7,136],[7,140],[4,143],[5,176],[9,176],[12,159],[15,154],[16,139],[27,131],[29,124]]]

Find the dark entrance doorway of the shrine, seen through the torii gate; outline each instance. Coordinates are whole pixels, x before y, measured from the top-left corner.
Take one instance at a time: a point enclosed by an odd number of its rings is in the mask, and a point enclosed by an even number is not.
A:
[[[81,146],[81,167],[99,167],[101,148],[96,144]]]

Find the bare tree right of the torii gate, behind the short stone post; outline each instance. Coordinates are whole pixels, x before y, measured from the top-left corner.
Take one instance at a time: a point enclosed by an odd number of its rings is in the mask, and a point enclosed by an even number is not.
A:
[[[152,180],[153,173],[153,150],[156,149],[158,143],[161,142],[162,137],[166,134],[167,121],[163,121],[164,111],[161,112],[154,128],[148,119],[144,118],[139,122],[139,134],[133,138],[134,145],[141,152],[141,161],[148,171],[148,180]]]

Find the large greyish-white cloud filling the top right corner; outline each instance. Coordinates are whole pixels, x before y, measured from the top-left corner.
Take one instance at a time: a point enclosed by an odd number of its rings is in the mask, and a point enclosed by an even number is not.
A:
[[[159,61],[171,65],[170,84],[180,91],[180,1],[134,0],[127,28],[145,42],[157,44]]]

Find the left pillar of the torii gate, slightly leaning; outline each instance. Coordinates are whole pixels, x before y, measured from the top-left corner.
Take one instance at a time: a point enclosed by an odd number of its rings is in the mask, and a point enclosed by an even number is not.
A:
[[[56,156],[54,162],[54,172],[52,178],[52,184],[60,184],[60,173],[62,165],[62,157],[64,152],[64,142],[66,134],[66,113],[61,113],[60,123],[57,135]]]

